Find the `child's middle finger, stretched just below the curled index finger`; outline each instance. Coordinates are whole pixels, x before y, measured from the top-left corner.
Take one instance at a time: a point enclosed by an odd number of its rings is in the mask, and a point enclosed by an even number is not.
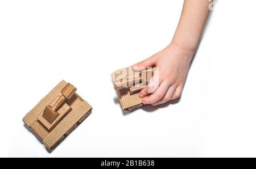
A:
[[[157,90],[152,95],[143,98],[142,102],[144,104],[154,104],[154,103],[158,102],[166,94],[169,87],[170,87],[170,85],[168,84],[168,82],[163,81],[160,84],[160,86],[157,88]]]

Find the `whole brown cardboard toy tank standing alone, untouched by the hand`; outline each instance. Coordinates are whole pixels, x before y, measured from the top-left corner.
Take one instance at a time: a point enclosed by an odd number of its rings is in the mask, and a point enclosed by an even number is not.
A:
[[[60,82],[23,118],[48,151],[58,146],[92,111],[76,90],[72,84]]]

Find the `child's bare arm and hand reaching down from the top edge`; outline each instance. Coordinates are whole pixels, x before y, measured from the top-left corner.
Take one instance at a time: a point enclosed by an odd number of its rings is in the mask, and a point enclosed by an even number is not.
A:
[[[159,67],[159,83],[150,81],[139,94],[144,104],[157,105],[180,97],[209,14],[209,4],[209,0],[184,0],[180,22],[171,44],[133,65],[135,71],[150,66]],[[148,93],[153,94],[147,96]]]

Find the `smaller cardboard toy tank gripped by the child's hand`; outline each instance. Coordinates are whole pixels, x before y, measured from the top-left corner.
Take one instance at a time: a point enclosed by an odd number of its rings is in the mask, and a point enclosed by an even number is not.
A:
[[[143,71],[133,71],[131,67],[126,67],[112,73],[114,89],[123,111],[131,112],[143,106],[139,92],[146,87],[154,71],[155,67]]]

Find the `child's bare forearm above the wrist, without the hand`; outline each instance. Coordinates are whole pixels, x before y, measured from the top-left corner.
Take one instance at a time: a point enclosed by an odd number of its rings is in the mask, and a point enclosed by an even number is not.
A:
[[[184,0],[172,44],[195,53],[209,14],[208,0]]]

